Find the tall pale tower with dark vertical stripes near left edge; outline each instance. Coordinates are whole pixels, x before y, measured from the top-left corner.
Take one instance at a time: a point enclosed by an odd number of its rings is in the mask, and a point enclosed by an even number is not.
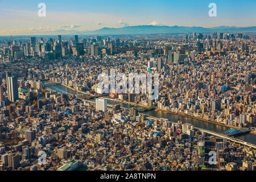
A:
[[[7,91],[8,99],[11,102],[18,100],[18,80],[16,77],[9,76],[7,77]]]

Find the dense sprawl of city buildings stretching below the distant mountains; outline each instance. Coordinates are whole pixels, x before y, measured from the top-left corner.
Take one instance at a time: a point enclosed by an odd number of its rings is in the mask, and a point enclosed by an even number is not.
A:
[[[0,37],[0,170],[254,171],[255,38]],[[129,86],[118,93],[118,81],[105,93],[98,75],[113,70],[158,73],[159,95],[151,100]],[[196,127],[184,117],[229,130]]]

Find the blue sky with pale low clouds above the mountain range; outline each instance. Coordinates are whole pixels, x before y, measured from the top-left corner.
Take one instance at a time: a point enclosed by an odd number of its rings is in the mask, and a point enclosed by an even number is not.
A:
[[[209,17],[209,3],[217,17]],[[38,4],[46,4],[46,17]],[[255,0],[0,0],[0,35],[56,30],[97,30],[142,24],[167,26],[256,26]],[[155,22],[155,23],[154,23]]]

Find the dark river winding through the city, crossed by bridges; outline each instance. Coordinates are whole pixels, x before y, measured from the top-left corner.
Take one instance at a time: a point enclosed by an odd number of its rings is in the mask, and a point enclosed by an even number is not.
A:
[[[45,82],[43,84],[45,84]],[[51,86],[47,86],[47,88],[55,90],[56,92],[61,92],[61,93],[69,94],[69,95],[81,94],[81,93],[76,92],[75,90],[69,89],[69,88],[67,88],[63,85],[51,85]],[[122,102],[118,102],[118,103],[121,106],[126,107],[126,108],[133,107],[133,106],[131,106],[129,104],[126,104],[126,103],[122,103]],[[114,104],[117,104],[117,102],[108,100],[108,104],[114,105]],[[201,129],[206,129],[206,130],[209,130],[209,131],[214,131],[216,133],[224,133],[226,130],[229,129],[229,127],[216,125],[214,123],[210,123],[210,122],[206,122],[206,121],[201,121],[200,119],[189,118],[189,117],[176,115],[176,114],[171,114],[171,113],[163,113],[161,111],[150,110],[150,111],[145,111],[143,113],[151,115],[151,116],[156,117],[156,118],[167,118],[169,121],[172,121],[172,122],[177,122],[178,119],[181,119],[181,121],[183,123],[191,123],[195,127],[199,127]],[[250,133],[245,134],[245,135],[241,135],[241,136],[238,136],[238,137],[235,137],[235,138],[241,139],[241,140],[243,140],[247,143],[256,144],[256,135],[253,135],[253,134],[250,134]]]

